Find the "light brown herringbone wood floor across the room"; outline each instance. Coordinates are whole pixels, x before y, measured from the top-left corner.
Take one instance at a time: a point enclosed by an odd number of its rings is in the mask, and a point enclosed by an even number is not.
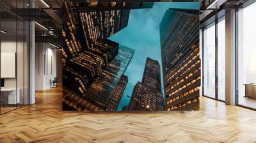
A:
[[[200,98],[200,111],[61,111],[61,89],[0,116],[0,142],[256,142],[256,112]]]

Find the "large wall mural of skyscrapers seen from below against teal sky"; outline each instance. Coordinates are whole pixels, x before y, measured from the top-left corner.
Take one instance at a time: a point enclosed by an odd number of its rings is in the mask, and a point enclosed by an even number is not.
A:
[[[199,110],[199,3],[63,9],[63,110]]]

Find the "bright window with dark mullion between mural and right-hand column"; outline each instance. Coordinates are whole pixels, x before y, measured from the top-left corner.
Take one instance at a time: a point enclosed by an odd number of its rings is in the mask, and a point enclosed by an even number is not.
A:
[[[225,16],[203,32],[203,95],[225,102]]]

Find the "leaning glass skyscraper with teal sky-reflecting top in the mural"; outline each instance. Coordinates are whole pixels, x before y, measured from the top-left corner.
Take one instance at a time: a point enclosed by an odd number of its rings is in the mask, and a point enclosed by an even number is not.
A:
[[[119,49],[118,56],[111,61],[102,72],[102,75],[93,82],[85,94],[86,98],[92,98],[93,101],[102,105],[102,110],[116,110],[116,104],[122,97],[122,94],[117,96],[114,93],[117,90],[115,88],[119,86],[118,82],[121,80],[134,54],[134,50],[123,45],[120,45]]]

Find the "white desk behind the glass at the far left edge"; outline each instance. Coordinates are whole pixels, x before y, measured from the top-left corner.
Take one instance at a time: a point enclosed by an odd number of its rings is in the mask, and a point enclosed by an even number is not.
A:
[[[16,97],[16,91],[18,91]],[[3,88],[1,89],[1,102],[4,104],[17,104],[20,103],[20,89],[18,88]]]

